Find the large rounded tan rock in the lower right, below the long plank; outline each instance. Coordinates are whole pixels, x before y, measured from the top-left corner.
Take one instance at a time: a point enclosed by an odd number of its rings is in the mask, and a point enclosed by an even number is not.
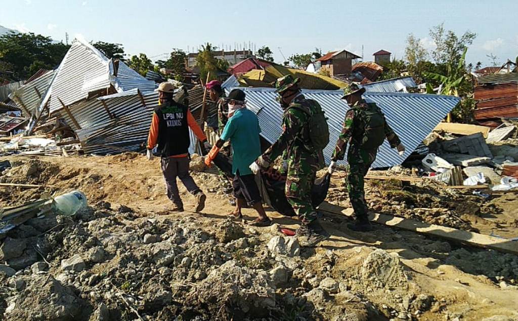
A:
[[[364,260],[362,269],[364,282],[374,287],[407,286],[409,276],[397,257],[391,256],[383,249],[376,249]]]

